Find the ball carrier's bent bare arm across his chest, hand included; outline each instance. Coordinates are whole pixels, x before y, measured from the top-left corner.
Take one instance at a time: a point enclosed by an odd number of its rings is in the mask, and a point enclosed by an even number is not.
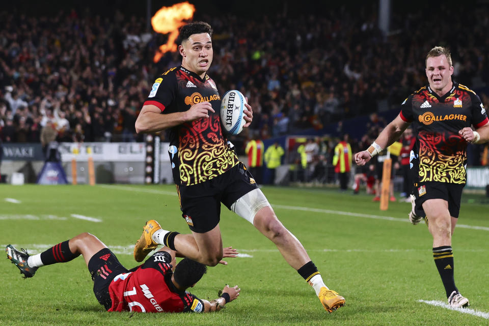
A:
[[[150,133],[181,125],[185,122],[209,117],[214,112],[209,102],[192,105],[185,112],[161,114],[161,110],[152,104],[144,105],[135,123],[137,133]]]

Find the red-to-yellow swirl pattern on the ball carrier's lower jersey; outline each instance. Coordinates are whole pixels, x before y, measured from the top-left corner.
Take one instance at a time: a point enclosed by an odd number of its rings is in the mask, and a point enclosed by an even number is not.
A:
[[[180,180],[183,185],[210,180],[238,162],[222,136],[218,114],[185,124],[179,143]]]

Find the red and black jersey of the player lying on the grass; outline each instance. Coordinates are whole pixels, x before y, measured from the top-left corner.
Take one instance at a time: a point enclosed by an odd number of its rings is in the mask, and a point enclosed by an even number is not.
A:
[[[158,251],[134,272],[116,276],[108,286],[112,307],[107,311],[202,312],[200,299],[173,284],[171,260],[168,252]]]

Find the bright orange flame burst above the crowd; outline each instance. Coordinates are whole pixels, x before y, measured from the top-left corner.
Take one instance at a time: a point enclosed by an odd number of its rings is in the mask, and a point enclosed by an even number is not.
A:
[[[151,18],[151,25],[155,32],[168,34],[167,44],[163,44],[156,51],[153,61],[156,63],[161,56],[168,51],[175,52],[177,45],[175,40],[178,37],[178,28],[185,24],[185,20],[194,17],[195,6],[188,2],[175,4],[171,7],[161,7],[160,10]]]

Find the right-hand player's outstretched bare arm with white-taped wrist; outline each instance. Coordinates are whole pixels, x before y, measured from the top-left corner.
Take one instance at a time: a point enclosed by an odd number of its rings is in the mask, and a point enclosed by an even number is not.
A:
[[[399,139],[408,126],[409,123],[406,123],[402,120],[400,115],[397,115],[396,118],[384,128],[367,150],[355,154],[355,162],[357,165],[365,165],[365,163],[370,161],[373,156],[392,145],[394,141]]]

